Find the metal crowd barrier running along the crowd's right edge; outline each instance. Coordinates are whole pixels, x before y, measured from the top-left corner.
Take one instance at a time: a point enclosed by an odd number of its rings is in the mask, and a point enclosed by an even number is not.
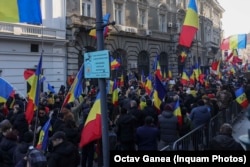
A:
[[[167,145],[160,151],[205,150],[209,141],[219,133],[220,126],[225,122],[233,124],[241,111],[241,106],[236,101],[233,101],[228,109],[219,111],[217,115],[210,119],[208,124],[201,125],[191,130],[189,133],[176,140],[173,145]]]

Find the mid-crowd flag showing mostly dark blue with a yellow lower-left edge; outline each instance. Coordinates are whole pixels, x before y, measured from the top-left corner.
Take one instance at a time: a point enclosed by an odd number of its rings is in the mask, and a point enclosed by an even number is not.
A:
[[[158,114],[161,113],[160,106],[161,106],[163,99],[165,98],[166,93],[167,93],[166,89],[162,85],[160,79],[157,76],[155,76],[155,86],[154,86],[153,98],[154,98],[154,106],[155,106]]]

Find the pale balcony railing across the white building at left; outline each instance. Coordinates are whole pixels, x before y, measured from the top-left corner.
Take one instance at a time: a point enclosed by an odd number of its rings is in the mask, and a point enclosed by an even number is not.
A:
[[[0,35],[21,35],[29,37],[43,37],[52,39],[65,39],[65,30],[46,28],[27,24],[12,24],[0,22]]]

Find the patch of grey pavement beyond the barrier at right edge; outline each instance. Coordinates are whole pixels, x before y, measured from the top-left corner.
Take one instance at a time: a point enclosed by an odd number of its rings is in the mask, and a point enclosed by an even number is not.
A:
[[[237,120],[233,123],[233,137],[236,141],[240,142],[239,137],[246,135],[250,129],[250,120],[246,116],[246,111],[243,110],[238,116]],[[242,143],[241,143],[242,144]],[[243,144],[242,144],[243,145]],[[243,145],[245,148],[245,146]]]

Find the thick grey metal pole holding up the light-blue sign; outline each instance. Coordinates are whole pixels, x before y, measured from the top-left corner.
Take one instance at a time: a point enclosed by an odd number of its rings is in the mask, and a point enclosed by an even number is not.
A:
[[[97,37],[97,50],[104,49],[102,20],[102,0],[96,0],[96,37]],[[109,167],[109,136],[108,136],[108,113],[107,113],[107,92],[105,78],[98,78],[98,86],[100,89],[101,99],[101,118],[102,118],[102,157],[103,166]]]

